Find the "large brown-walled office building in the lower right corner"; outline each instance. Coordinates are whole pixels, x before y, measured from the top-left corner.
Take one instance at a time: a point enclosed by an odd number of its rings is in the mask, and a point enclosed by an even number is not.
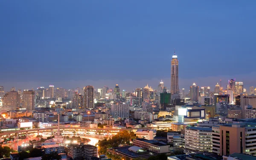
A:
[[[218,155],[244,153],[256,155],[256,123],[212,127],[212,152]]]

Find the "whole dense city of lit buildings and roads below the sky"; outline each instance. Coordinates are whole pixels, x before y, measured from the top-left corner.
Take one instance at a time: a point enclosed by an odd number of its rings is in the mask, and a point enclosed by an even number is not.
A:
[[[0,142],[19,152],[2,156],[204,160],[256,155],[253,86],[247,92],[233,78],[216,82],[214,89],[192,82],[189,91],[180,90],[175,52],[170,71],[171,89],[162,80],[157,89],[147,84],[132,92],[118,84],[113,89],[0,86]]]

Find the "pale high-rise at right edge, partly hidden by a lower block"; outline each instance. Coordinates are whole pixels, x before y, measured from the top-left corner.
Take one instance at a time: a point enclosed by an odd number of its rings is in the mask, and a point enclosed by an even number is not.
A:
[[[256,109],[256,96],[241,96],[240,97],[240,106],[242,108],[242,118],[245,117],[245,106],[252,106],[253,109]]]

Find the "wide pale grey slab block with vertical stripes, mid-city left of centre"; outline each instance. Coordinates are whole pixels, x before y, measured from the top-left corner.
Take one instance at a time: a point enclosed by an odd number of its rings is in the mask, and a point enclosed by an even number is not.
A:
[[[111,114],[114,119],[129,118],[129,105],[128,104],[112,104]]]

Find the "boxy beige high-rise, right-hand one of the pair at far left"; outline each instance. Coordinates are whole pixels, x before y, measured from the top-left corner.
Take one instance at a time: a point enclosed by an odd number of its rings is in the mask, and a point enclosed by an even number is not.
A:
[[[35,109],[35,91],[23,91],[22,106],[28,111]]]

